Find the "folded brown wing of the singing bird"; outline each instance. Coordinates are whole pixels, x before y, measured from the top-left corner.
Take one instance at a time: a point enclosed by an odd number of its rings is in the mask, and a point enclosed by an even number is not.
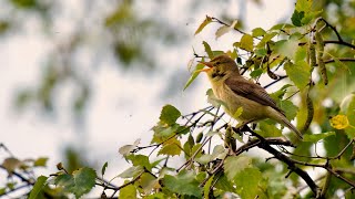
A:
[[[252,83],[243,77],[235,77],[235,76],[231,76],[226,78],[225,84],[236,95],[243,96],[245,98],[257,102],[265,106],[271,106],[274,109],[283,113],[283,111],[280,107],[277,107],[275,101],[258,84]]]

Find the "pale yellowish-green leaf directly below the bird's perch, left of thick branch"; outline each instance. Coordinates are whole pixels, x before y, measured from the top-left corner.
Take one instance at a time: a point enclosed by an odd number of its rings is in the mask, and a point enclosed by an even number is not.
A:
[[[251,167],[252,159],[245,156],[230,156],[224,161],[224,171],[229,180],[233,180],[236,174]]]

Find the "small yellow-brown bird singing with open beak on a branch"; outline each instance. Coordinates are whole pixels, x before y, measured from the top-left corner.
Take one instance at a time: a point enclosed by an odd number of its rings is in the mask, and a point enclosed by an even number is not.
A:
[[[275,101],[262,86],[245,80],[230,56],[223,54],[210,62],[200,63],[209,66],[201,71],[207,73],[214,95],[226,104],[224,109],[230,116],[233,117],[236,111],[242,107],[242,114],[235,119],[243,124],[271,118],[287,126],[302,139],[302,134],[290,123]]]

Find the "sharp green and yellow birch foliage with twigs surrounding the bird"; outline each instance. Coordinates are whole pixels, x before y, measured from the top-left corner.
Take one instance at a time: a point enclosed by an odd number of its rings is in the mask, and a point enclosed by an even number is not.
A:
[[[270,30],[255,28],[247,33],[237,28],[237,21],[227,24],[206,17],[195,31],[199,34],[207,25],[216,24],[216,38],[229,31],[242,34],[227,52],[212,50],[204,42],[206,56],[230,54],[243,64],[245,76],[250,75],[253,81],[268,78],[271,83],[264,87],[281,84],[271,95],[287,118],[296,121],[304,140],[296,140],[288,134],[286,137],[291,140],[282,138],[282,129],[271,121],[260,122],[253,128],[235,127],[220,108],[223,102],[210,91],[212,106],[184,115],[173,105],[165,105],[152,128],[150,145],[141,145],[138,139],[120,148],[120,154],[131,164],[114,177],[124,179],[120,186],[111,182],[114,178],[104,179],[108,163],[101,169],[101,177],[88,167],[67,171],[59,164],[59,172],[34,178],[28,174],[45,165],[45,158],[28,164],[11,154],[1,168],[31,187],[30,197],[80,198],[94,185],[101,188],[101,198],[352,196],[355,189],[355,96],[351,92],[339,96],[338,90],[342,81],[347,81],[349,87],[355,84],[355,45],[348,41],[354,38],[355,30],[338,31],[326,14],[322,17],[317,6],[311,0],[297,0],[292,24],[275,24]],[[355,10],[354,4],[352,8]],[[119,14],[112,17],[116,18]],[[196,52],[194,55],[199,61],[207,59]],[[185,88],[197,77],[201,64],[195,69]],[[298,101],[294,101],[294,96]],[[331,101],[331,105],[323,105],[326,101]],[[250,153],[251,149],[257,153]],[[143,150],[149,150],[149,155]],[[268,156],[261,156],[262,151]],[[17,182],[8,184],[0,189],[0,196],[20,187]]]

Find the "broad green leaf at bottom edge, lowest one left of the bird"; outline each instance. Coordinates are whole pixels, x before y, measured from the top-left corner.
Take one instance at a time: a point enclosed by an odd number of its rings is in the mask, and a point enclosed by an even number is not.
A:
[[[162,181],[173,192],[201,198],[202,189],[199,187],[200,184],[195,176],[194,171],[182,170],[176,176],[165,175]]]

